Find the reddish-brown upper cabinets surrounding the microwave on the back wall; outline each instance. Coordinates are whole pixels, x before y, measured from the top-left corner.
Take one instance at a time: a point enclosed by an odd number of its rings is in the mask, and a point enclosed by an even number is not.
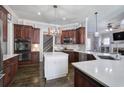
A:
[[[61,44],[84,44],[84,43],[85,27],[62,31]]]

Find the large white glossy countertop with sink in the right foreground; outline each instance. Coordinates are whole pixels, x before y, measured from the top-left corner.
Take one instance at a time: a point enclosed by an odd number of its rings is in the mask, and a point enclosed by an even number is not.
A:
[[[105,86],[124,86],[124,56],[121,56],[120,60],[105,60],[100,59],[97,55],[112,54],[96,52],[82,53],[93,54],[96,60],[72,63],[74,67]]]

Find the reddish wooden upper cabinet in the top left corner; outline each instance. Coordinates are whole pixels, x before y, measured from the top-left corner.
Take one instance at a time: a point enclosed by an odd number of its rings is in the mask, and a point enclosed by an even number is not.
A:
[[[3,25],[3,41],[7,41],[7,15],[8,11],[0,5],[0,19]]]

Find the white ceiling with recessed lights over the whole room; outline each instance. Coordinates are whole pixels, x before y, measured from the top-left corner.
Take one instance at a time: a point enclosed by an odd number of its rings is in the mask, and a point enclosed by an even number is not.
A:
[[[95,29],[95,15],[98,12],[98,27],[105,29],[109,22],[116,25],[124,19],[124,6],[121,5],[58,5],[57,18],[51,5],[10,5],[10,8],[20,17],[51,24],[65,25],[81,23],[89,19],[89,30]],[[37,13],[40,12],[41,15]],[[66,20],[63,20],[63,17]]]

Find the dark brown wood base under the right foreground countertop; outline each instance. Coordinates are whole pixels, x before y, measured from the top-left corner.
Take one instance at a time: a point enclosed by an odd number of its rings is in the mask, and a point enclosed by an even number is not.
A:
[[[87,76],[77,68],[74,71],[74,86],[75,87],[103,87],[100,83]]]

